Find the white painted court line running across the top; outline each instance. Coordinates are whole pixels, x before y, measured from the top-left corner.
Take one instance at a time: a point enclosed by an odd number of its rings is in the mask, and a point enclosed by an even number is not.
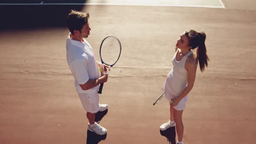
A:
[[[116,3],[0,3],[0,5],[129,5],[129,6],[152,6],[152,7],[203,7],[203,8],[225,8],[223,2],[219,0],[222,6],[211,5],[182,5],[182,4],[116,4]]]

